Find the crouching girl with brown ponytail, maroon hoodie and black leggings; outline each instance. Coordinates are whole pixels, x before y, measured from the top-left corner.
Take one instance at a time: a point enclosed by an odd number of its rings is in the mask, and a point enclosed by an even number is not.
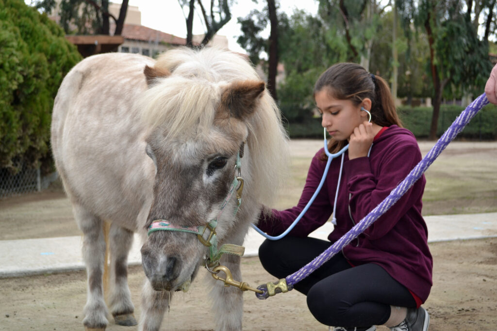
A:
[[[262,265],[277,278],[324,252],[421,160],[413,133],[401,127],[388,85],[362,66],[331,66],[316,82],[314,99],[331,136],[330,152],[347,143],[349,148],[343,160],[331,161],[319,195],[288,236],[260,246]],[[299,203],[286,210],[265,210],[259,228],[278,235],[293,222],[316,191],[326,159],[322,148],[311,162]],[[423,176],[341,253],[295,284],[295,289],[307,295],[307,305],[318,321],[345,331],[374,331],[376,325],[394,331],[428,329],[428,313],[420,307],[431,289],[433,265],[421,216],[425,182]],[[333,211],[336,225],[330,241],[308,237]]]

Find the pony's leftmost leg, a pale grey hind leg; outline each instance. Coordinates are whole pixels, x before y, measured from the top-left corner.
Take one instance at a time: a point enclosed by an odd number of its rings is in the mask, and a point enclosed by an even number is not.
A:
[[[83,231],[83,260],[88,277],[83,325],[86,330],[105,330],[108,321],[103,298],[106,248],[103,222],[79,204],[73,204],[73,210],[78,226]]]

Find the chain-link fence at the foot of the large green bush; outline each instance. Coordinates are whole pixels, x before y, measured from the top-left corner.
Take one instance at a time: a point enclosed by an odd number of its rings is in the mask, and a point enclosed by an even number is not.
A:
[[[0,169],[0,199],[41,190],[40,169],[22,169],[15,175]]]

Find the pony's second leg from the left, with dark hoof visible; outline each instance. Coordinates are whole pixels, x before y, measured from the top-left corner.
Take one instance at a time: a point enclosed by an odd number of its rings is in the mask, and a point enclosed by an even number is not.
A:
[[[112,223],[110,226],[110,295],[109,309],[114,321],[122,326],[137,325],[128,287],[128,253],[133,232]]]

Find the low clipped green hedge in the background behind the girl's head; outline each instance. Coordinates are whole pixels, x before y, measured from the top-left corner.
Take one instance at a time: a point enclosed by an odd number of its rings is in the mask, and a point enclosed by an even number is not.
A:
[[[442,135],[452,122],[461,114],[464,107],[442,105],[438,118],[438,136]],[[405,128],[414,133],[416,138],[427,138],[431,125],[431,107],[406,107],[398,108],[399,116]],[[309,111],[310,114],[310,111]],[[301,122],[286,121],[285,129],[291,138],[323,138],[321,118],[309,117]],[[476,114],[471,122],[459,133],[458,138],[463,139],[497,139],[497,106],[488,105]]]

